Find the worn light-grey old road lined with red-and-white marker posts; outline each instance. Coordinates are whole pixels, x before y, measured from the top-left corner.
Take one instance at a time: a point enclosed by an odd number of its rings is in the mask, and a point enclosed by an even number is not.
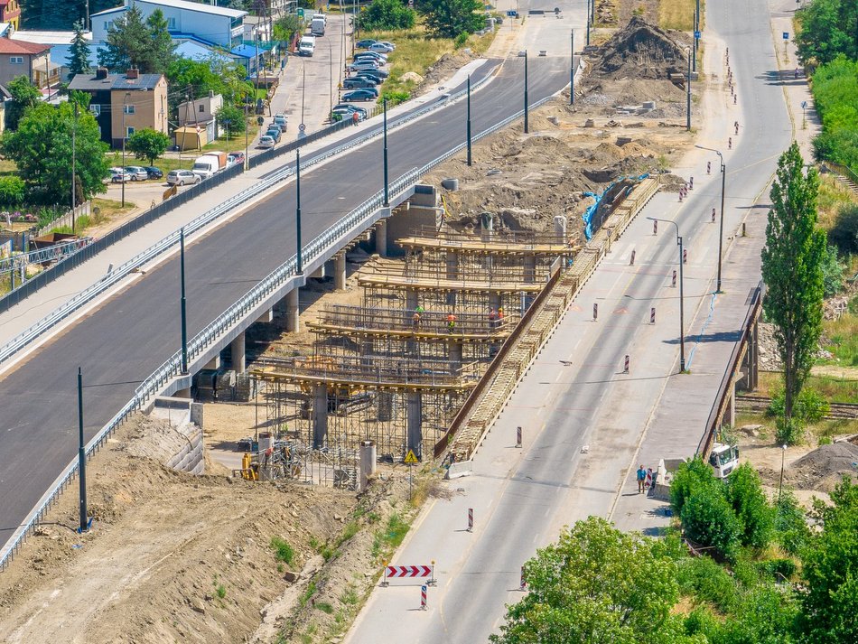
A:
[[[732,100],[723,100],[708,114],[711,122],[697,124],[704,128],[701,143],[726,155],[726,237],[769,182],[791,129],[765,1],[709,6],[706,27],[707,35],[730,48],[740,101],[734,108]],[[721,61],[713,62],[707,73],[721,73]],[[741,122],[741,135],[728,152],[733,120]],[[415,580],[392,582],[374,590],[347,642],[485,642],[499,630],[504,604],[522,596],[521,565],[536,548],[577,519],[610,514],[660,392],[669,378],[683,378],[676,375],[678,299],[670,287],[678,257],[676,229],[663,223],[653,235],[645,218],[676,220],[689,253],[685,320],[695,313],[704,320],[718,247],[718,227],[708,213],[720,198],[717,173],[705,176],[707,159],[718,167],[714,154],[700,153],[692,155],[689,167],[678,169],[695,176],[689,200],[679,204],[676,194],[657,195],[612,247],[492,427],[474,458],[473,474],[450,482],[456,494],[432,502],[390,562],[434,561],[438,584],[429,589],[428,610],[417,610]],[[636,266],[630,266],[632,249]],[[731,286],[724,284],[727,290]],[[592,303],[600,305],[599,322],[592,322]],[[657,324],[648,323],[652,306]],[[718,350],[735,340],[731,334],[707,341]],[[686,357],[692,346],[689,341]],[[631,371],[623,374],[629,354]],[[517,426],[524,428],[520,450]],[[474,510],[472,531],[466,529],[468,509]]]

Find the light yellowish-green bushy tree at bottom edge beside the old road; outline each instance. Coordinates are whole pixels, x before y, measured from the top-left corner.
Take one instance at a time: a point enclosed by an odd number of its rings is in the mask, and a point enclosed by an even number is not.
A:
[[[524,574],[528,593],[508,606],[500,635],[490,637],[495,644],[631,644],[681,635],[670,615],[678,596],[674,562],[653,540],[602,518],[564,528]]]

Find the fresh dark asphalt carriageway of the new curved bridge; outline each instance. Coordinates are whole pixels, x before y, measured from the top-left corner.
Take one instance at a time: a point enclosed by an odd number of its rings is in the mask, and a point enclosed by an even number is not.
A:
[[[496,61],[497,62],[497,61]],[[529,64],[531,101],[562,89],[567,61]],[[523,106],[523,61],[507,61],[471,98],[473,131]],[[362,134],[362,132],[361,132]],[[444,154],[465,136],[459,102],[388,135],[391,180]],[[342,154],[302,176],[308,243],[382,188],[382,143]],[[191,337],[295,252],[294,184],[187,249]],[[83,369],[87,440],[179,349],[179,270],[173,258],[100,305],[0,380],[0,542],[12,536],[77,453],[76,373]]]

